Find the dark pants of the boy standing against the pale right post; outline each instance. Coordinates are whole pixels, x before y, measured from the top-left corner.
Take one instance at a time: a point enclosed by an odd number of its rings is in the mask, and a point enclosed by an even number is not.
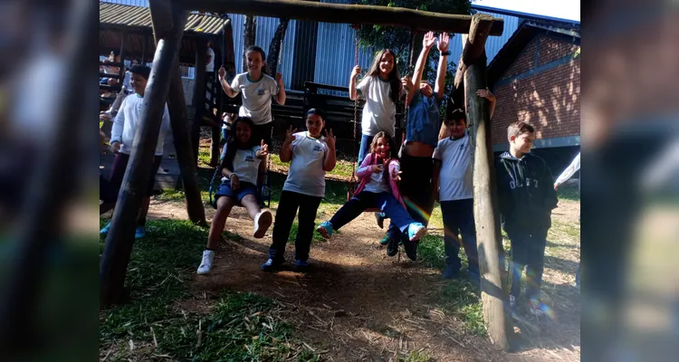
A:
[[[460,246],[469,261],[469,272],[479,275],[479,258],[476,252],[476,227],[473,220],[473,199],[442,201],[441,213],[444,214],[445,264],[460,270]],[[462,243],[458,235],[462,236]]]

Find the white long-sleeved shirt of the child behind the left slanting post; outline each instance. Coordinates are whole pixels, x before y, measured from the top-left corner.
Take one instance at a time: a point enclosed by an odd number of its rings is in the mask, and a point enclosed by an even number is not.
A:
[[[134,141],[134,134],[140,124],[141,106],[143,104],[144,98],[137,93],[125,97],[118,115],[113,120],[113,127],[110,130],[110,142],[120,142],[120,152],[126,155],[132,153],[132,141]],[[163,110],[163,120],[160,124],[158,143],[156,144],[156,156],[163,156],[165,138],[169,129],[169,112],[167,111],[166,103],[165,110]]]

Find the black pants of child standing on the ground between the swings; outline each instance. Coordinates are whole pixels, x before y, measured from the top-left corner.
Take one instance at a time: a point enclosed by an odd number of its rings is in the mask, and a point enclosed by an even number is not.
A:
[[[313,237],[313,227],[316,221],[316,212],[319,209],[322,197],[302,195],[292,191],[283,191],[281,201],[276,210],[276,220],[273,224],[273,243],[269,247],[269,258],[275,262],[285,260],[285,244],[288,243],[290,228],[300,209],[297,227],[297,238],[295,239],[295,259],[306,262],[309,259],[311,249],[311,238]]]

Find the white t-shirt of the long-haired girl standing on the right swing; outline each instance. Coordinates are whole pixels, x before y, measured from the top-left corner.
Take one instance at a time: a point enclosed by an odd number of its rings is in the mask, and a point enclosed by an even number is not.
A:
[[[391,84],[375,75],[366,75],[356,86],[360,96],[366,100],[363,106],[361,129],[364,135],[375,136],[385,131],[390,137],[396,134],[396,104],[389,98]],[[400,96],[406,94],[401,89]]]

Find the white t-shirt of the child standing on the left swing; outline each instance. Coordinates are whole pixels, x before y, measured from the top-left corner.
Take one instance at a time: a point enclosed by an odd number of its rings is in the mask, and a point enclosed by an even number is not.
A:
[[[271,98],[278,94],[278,83],[270,76],[262,74],[259,81],[250,81],[247,73],[235,76],[231,88],[240,92],[243,99],[238,115],[250,117],[255,125],[263,125],[272,121]]]

